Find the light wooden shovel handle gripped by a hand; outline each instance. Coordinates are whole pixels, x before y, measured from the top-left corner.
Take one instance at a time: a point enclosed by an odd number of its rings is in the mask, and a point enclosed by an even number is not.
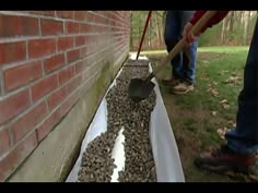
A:
[[[200,29],[206,25],[206,23],[216,13],[216,11],[207,11],[202,17],[190,29],[190,32],[196,35],[200,32]],[[156,69],[150,74],[150,77],[148,80],[151,80],[155,76],[156,73],[159,73],[179,51],[181,51],[186,46],[185,39],[180,39],[179,43],[176,44],[176,46],[171,50],[168,56],[156,67]],[[152,76],[152,77],[151,77]]]

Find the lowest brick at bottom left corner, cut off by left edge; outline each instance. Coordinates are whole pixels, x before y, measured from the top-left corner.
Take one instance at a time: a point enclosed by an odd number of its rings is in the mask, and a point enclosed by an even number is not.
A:
[[[24,159],[33,152],[37,145],[36,133],[33,132],[16,148],[14,148],[7,157],[0,160],[0,181],[7,178],[24,161]]]

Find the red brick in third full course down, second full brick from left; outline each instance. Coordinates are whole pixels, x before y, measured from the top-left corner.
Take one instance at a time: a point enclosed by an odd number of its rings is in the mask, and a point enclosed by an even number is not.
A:
[[[46,59],[44,62],[44,69],[47,73],[49,73],[54,70],[59,69],[63,64],[64,64],[64,55],[60,53],[60,55],[56,55],[51,58]]]

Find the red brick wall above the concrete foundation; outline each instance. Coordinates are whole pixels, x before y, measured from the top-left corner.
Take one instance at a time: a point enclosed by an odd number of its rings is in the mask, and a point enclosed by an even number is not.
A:
[[[129,16],[128,11],[0,11],[0,181],[93,84],[99,63],[129,51]]]

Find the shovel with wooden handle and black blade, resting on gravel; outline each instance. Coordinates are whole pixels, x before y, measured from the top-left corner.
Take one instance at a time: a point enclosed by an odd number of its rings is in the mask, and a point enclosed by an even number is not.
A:
[[[192,34],[198,34],[206,23],[216,13],[216,11],[207,11],[204,15],[192,26]],[[132,79],[129,83],[128,94],[134,101],[140,101],[150,96],[155,84],[151,81],[179,51],[186,47],[185,39],[172,49],[168,56],[156,67],[156,69],[146,79]]]

